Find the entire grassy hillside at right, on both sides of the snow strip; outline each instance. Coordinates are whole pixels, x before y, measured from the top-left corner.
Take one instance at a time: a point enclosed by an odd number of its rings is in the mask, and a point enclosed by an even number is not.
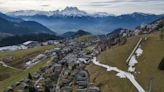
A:
[[[158,70],[158,65],[164,57],[164,41],[159,39],[159,33],[142,35],[148,40],[142,43],[143,55],[138,58],[134,74],[141,86],[148,91],[152,80],[152,92],[164,92],[164,71]],[[116,66],[122,70],[128,69],[126,59],[139,37],[133,37],[123,46],[114,46],[102,52],[98,59],[105,64]],[[88,70],[91,74],[91,82],[101,87],[102,92],[137,92],[134,86],[127,79],[120,79],[115,76],[115,72],[106,72],[93,64],[89,65]]]

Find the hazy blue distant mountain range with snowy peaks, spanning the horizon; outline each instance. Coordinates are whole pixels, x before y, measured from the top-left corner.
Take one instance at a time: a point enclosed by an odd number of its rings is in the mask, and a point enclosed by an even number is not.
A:
[[[24,20],[39,22],[58,34],[79,29],[94,34],[109,33],[117,28],[134,29],[138,25],[150,23],[164,16],[163,14],[155,15],[137,12],[120,16],[104,12],[89,14],[77,7],[66,7],[64,10],[49,12],[25,10],[7,14]]]

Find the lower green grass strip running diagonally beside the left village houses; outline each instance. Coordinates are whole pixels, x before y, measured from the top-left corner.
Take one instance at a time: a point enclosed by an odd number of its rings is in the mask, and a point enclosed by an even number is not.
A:
[[[8,79],[0,81],[0,92],[3,92],[3,89],[10,86],[12,83],[15,83],[15,82],[27,77],[28,73],[36,72],[41,67],[46,65],[46,63],[49,60],[51,60],[51,58],[46,58],[26,71],[15,71],[15,70],[0,66],[0,73],[8,73],[11,75]]]

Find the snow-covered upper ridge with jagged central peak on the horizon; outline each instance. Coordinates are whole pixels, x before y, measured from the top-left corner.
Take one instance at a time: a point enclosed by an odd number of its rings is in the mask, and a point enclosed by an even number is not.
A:
[[[103,17],[109,16],[106,12],[97,12],[94,14],[89,14],[85,11],[79,10],[77,7],[66,7],[63,10],[55,11],[36,11],[36,10],[20,10],[7,13],[10,16],[34,16],[34,15],[45,15],[45,16],[95,16]]]

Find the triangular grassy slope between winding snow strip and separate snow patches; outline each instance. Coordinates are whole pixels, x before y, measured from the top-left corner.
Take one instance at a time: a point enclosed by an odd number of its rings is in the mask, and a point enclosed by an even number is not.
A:
[[[134,49],[138,40],[139,37],[132,37],[128,39],[125,45],[117,45],[107,49],[98,56],[98,59],[104,64],[127,70],[126,59]]]

